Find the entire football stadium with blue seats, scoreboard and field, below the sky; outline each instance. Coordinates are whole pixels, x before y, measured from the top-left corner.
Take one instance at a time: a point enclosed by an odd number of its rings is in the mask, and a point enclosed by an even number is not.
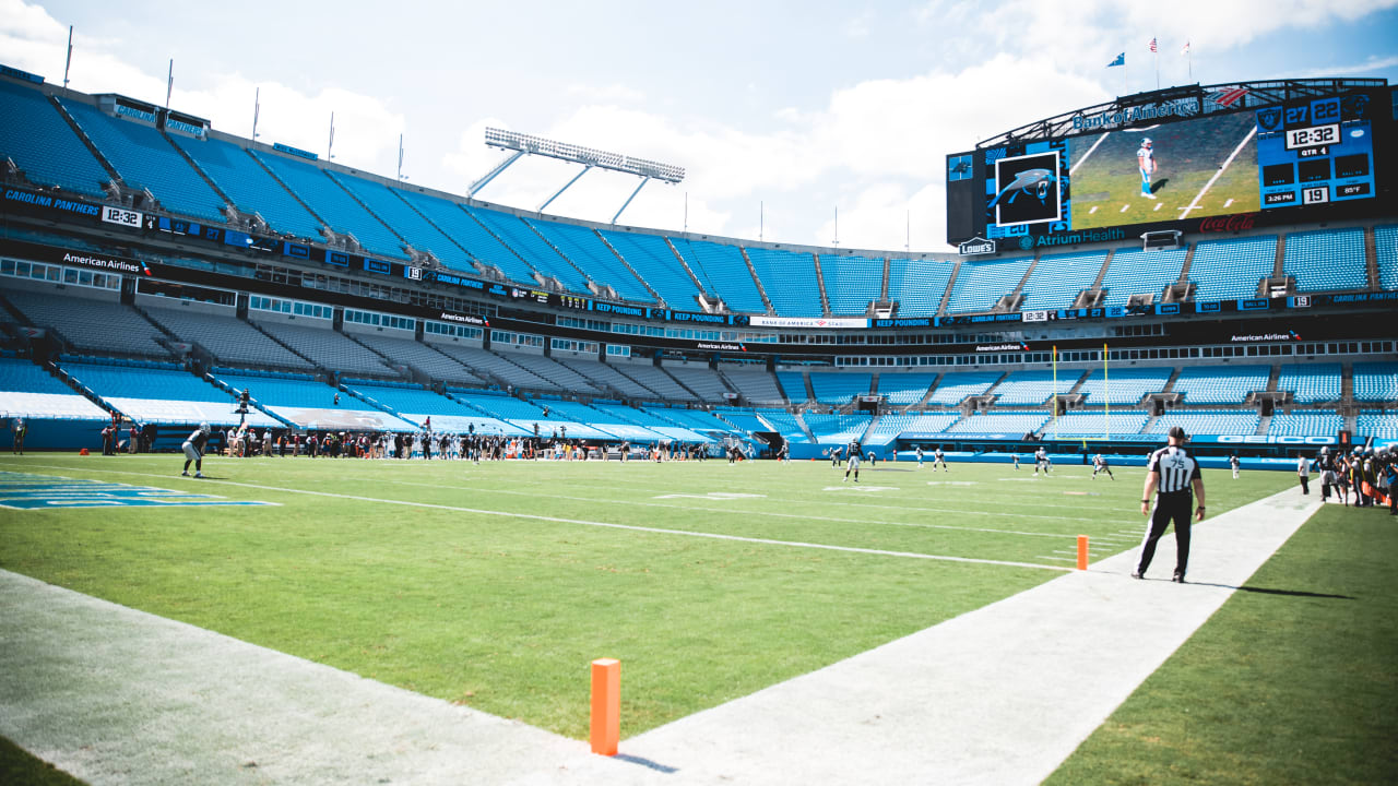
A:
[[[0,116],[0,779],[1398,778],[1387,80],[1025,117],[925,253]]]

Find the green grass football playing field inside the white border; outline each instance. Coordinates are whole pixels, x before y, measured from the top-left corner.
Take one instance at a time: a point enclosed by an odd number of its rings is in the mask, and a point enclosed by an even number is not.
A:
[[[1097,559],[1142,527],[1141,469],[884,463],[856,485],[821,462],[211,459],[206,481],[180,463],[31,455],[0,471],[277,506],[0,510],[0,568],[575,738],[596,657],[625,664],[630,736],[1050,580],[1078,534]],[[1295,483],[1206,478],[1212,516]],[[1391,578],[1373,582],[1392,597]],[[1225,610],[1261,600],[1313,603],[1239,593]],[[1225,645],[1253,636],[1216,628]],[[1096,740],[1069,765],[1124,755]]]

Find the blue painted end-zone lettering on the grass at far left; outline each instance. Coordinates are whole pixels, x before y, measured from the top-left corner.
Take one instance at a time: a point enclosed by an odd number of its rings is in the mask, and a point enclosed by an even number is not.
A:
[[[187,508],[212,505],[277,505],[225,499],[151,485],[129,485],[28,473],[0,473],[0,508],[53,510],[59,508]]]

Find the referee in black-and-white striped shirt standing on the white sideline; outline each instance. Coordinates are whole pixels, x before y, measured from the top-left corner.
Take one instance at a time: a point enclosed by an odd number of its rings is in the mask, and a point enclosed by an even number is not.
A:
[[[1146,463],[1145,491],[1141,492],[1141,515],[1151,516],[1151,529],[1146,531],[1145,543],[1141,544],[1141,561],[1131,573],[1132,579],[1145,576],[1151,559],[1155,557],[1155,544],[1165,534],[1165,527],[1174,522],[1174,576],[1172,580],[1184,583],[1184,571],[1190,564],[1190,510],[1194,510],[1195,520],[1204,520],[1204,476],[1199,474],[1199,463],[1184,449],[1188,435],[1184,429],[1170,427],[1170,443],[1151,453]],[[1192,488],[1192,492],[1191,492]],[[1155,498],[1155,510],[1151,510],[1151,495],[1159,491]],[[1199,496],[1199,506],[1194,508],[1194,495]]]

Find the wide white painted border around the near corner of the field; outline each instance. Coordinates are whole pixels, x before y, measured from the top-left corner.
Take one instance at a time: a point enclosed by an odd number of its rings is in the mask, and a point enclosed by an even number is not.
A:
[[[617,758],[0,572],[0,734],[94,785],[1037,783],[1318,508],[1290,490],[1205,522],[1188,585],[1167,537],[1153,580],[1103,559]]]

